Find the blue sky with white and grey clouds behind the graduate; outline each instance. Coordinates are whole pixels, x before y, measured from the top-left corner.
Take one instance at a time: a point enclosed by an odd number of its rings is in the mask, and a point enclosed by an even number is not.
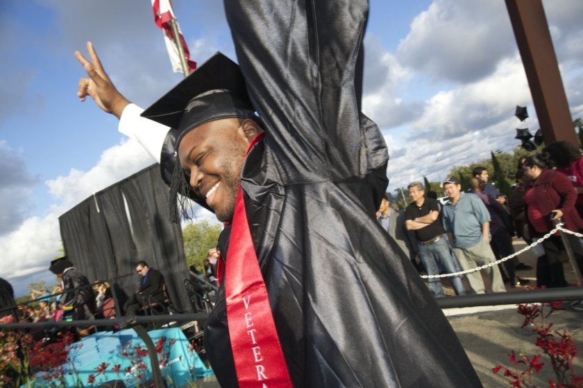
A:
[[[94,42],[130,100],[148,106],[172,73],[149,0],[5,0],[0,11],[0,276],[17,295],[61,247],[58,217],[153,163],[115,117],[76,98],[73,52]],[[543,1],[573,118],[583,117],[583,2]],[[235,59],[222,1],[174,0],[192,58]],[[389,190],[512,150],[516,105],[536,112],[503,0],[371,0],[364,112],[381,127]],[[203,215],[204,216],[204,215]],[[207,215],[208,216],[208,215]]]

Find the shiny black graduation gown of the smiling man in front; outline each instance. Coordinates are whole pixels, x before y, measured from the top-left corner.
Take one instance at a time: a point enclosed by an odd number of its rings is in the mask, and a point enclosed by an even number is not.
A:
[[[294,386],[480,387],[432,294],[374,218],[388,155],[355,91],[367,2],[225,4],[267,131],[242,188]],[[221,386],[237,387],[223,285],[205,344]]]

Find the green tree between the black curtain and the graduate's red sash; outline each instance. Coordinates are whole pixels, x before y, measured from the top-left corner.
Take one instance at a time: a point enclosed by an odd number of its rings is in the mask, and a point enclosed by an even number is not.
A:
[[[220,224],[198,221],[188,224],[183,229],[184,254],[186,265],[201,268],[208,250],[217,247],[219,234],[223,228]]]

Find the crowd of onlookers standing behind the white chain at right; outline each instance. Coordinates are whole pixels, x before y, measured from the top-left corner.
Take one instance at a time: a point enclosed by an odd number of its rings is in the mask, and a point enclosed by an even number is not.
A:
[[[512,238],[523,238],[530,245],[533,239],[555,228],[559,219],[566,229],[583,229],[583,158],[581,150],[571,143],[557,141],[537,155],[521,157],[509,197],[489,182],[486,168],[476,167],[472,175],[465,182],[469,187],[466,192],[455,177],[441,182],[446,195],[443,204],[436,200],[436,193],[425,193],[423,184],[412,182],[407,187],[411,203],[405,211],[391,209],[386,197],[377,212],[378,222],[398,247],[412,261],[419,258],[422,271],[428,275],[457,274],[510,256],[515,252]],[[582,240],[568,233],[566,238],[582,268]],[[538,257],[536,287],[568,285],[564,251],[558,233],[533,248]],[[514,257],[485,270],[448,279],[458,295],[505,292],[506,285],[514,288],[530,284],[518,276],[521,270],[532,267]],[[482,274],[489,279],[489,290],[484,287]],[[439,278],[430,277],[428,287],[435,297],[445,295]],[[573,308],[580,307],[580,302],[573,303]]]

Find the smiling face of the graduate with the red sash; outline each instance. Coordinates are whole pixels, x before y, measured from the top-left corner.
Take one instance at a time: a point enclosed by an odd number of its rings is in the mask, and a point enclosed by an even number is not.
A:
[[[187,181],[221,222],[233,218],[245,152],[258,132],[251,120],[221,118],[199,125],[180,141],[178,157]]]

